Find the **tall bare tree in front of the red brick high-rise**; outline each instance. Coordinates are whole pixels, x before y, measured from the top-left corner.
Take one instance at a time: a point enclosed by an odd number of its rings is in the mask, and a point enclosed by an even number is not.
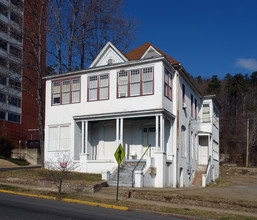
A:
[[[38,110],[41,161],[44,161],[44,83],[47,0],[24,1],[23,86]],[[31,103],[32,104],[32,103]]]

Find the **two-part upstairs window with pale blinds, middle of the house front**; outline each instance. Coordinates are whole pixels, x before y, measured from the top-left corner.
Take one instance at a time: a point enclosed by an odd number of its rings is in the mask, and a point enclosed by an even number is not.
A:
[[[109,98],[109,75],[89,76],[88,101]]]

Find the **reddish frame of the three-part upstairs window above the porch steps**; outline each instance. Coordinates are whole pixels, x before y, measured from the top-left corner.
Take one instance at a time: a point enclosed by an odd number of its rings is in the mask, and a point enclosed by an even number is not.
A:
[[[143,71],[144,69],[148,69],[151,68],[152,69],[152,79],[151,80],[143,80]],[[136,84],[138,82],[131,82],[131,73],[132,71],[139,71],[139,94],[131,94],[131,85],[132,84]],[[119,74],[122,72],[127,72],[128,73],[128,83],[127,83],[127,95],[126,96],[120,96],[120,92],[119,92]],[[151,82],[152,81],[152,93],[144,93],[143,91],[143,84],[144,82]],[[117,94],[116,97],[117,98],[131,98],[131,97],[139,97],[139,96],[147,96],[147,95],[154,95],[154,67],[153,66],[148,66],[148,67],[141,67],[141,68],[132,68],[129,70],[122,70],[122,71],[118,71],[117,72]]]

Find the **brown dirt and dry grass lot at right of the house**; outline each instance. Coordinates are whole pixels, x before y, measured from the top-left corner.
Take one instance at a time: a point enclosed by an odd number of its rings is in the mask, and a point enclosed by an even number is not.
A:
[[[122,196],[257,213],[257,168],[221,167],[218,183],[206,188],[124,190]]]

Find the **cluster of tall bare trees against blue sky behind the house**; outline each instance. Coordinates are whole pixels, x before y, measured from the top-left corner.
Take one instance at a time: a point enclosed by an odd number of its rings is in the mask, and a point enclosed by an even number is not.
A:
[[[59,73],[84,68],[108,41],[126,51],[137,25],[124,16],[123,7],[122,0],[49,0],[50,64]]]

